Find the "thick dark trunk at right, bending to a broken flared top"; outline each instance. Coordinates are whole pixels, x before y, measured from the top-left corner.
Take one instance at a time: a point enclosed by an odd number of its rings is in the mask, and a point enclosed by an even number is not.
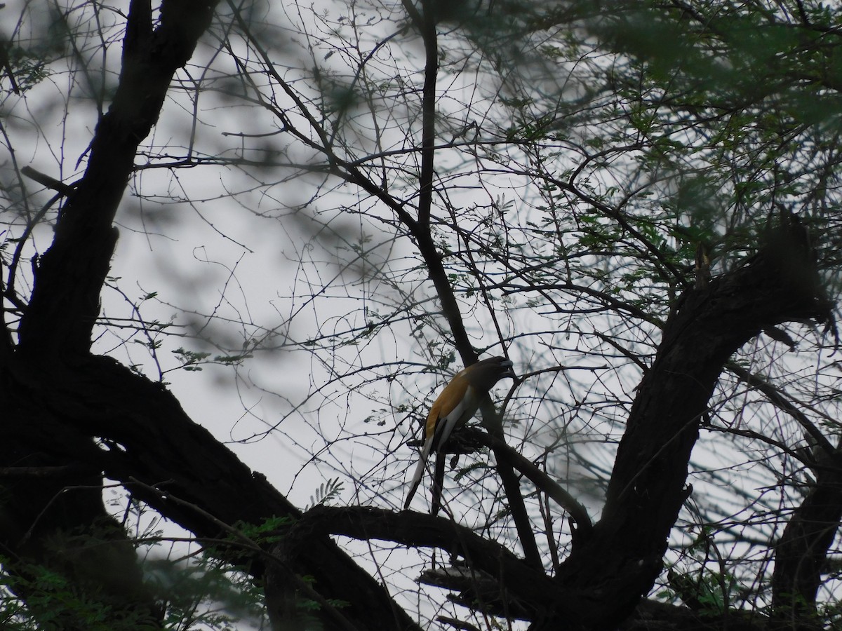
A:
[[[727,359],[765,328],[830,317],[807,232],[791,216],[743,267],[687,289],[638,387],[602,517],[558,575],[582,595],[573,616],[581,628],[616,628],[658,577],[692,492],[685,486],[690,452]],[[562,620],[569,623],[570,612],[541,628]]]

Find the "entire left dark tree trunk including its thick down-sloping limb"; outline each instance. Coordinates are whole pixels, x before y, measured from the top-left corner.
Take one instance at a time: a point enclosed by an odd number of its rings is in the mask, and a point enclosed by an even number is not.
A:
[[[103,472],[200,538],[219,538],[223,526],[238,521],[298,515],[263,476],[192,422],[167,390],[89,354],[117,238],[113,220],[137,148],[215,4],[165,0],[153,29],[151,3],[131,3],[114,102],[99,121],[85,175],[35,270],[18,343],[6,343],[6,335],[0,347],[0,550],[6,569],[25,579],[35,565],[51,567],[75,582],[80,597],[110,607],[115,623],[145,628],[159,626],[162,612],[141,581],[131,543],[104,508]],[[81,538],[99,544],[79,545]],[[232,559],[248,559],[248,569],[261,576],[269,557],[251,550],[232,553]],[[343,614],[355,628],[416,628],[328,538],[314,542],[290,570],[314,576],[321,597],[348,602]],[[281,589],[294,595],[296,585]],[[29,594],[24,588],[19,593]],[[68,618],[61,627],[86,624]]]

